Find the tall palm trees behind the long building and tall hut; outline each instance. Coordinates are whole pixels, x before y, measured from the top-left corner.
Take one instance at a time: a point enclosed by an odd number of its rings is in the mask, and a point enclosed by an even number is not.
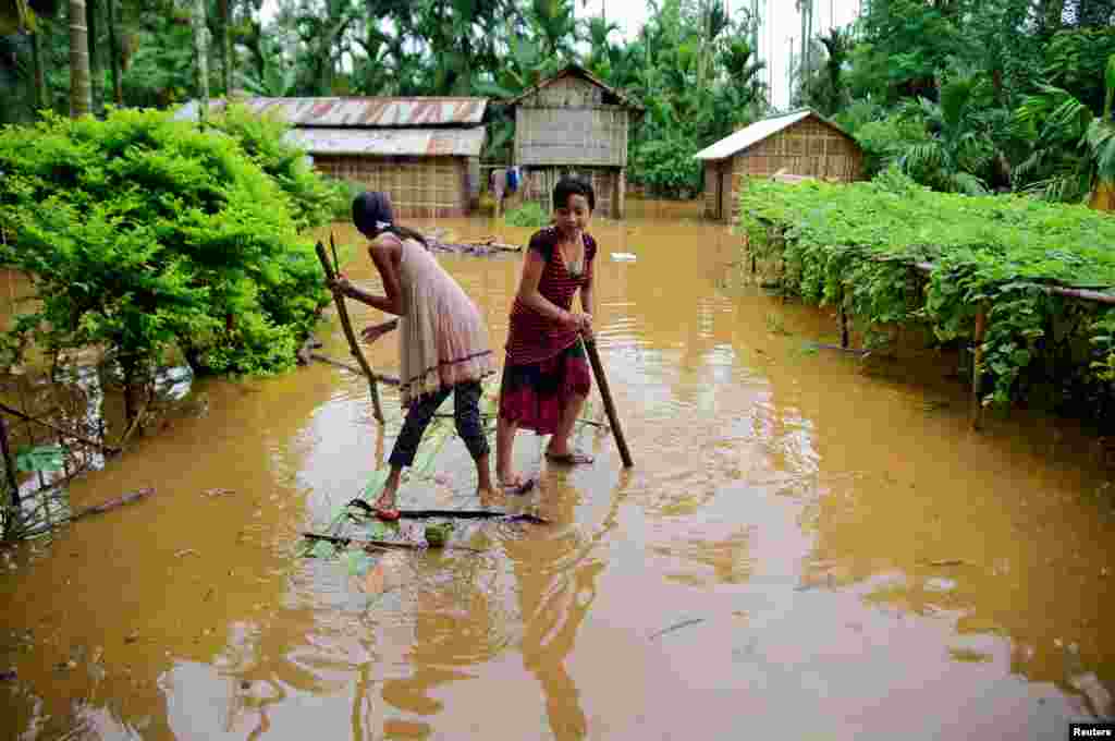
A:
[[[114,61],[120,105],[164,107],[198,94],[193,0],[113,0],[115,54],[109,0],[87,2],[94,110],[114,98]],[[501,98],[579,61],[648,106],[632,131],[629,180],[666,194],[699,190],[700,169],[691,155],[767,109],[754,49],[756,19],[744,9],[729,18],[711,0],[651,0],[651,20],[630,42],[607,18],[576,18],[574,0],[283,0],[270,23],[262,20],[260,0],[203,4],[214,95],[241,88],[268,96]],[[21,31],[12,32],[20,29],[18,19],[0,28],[0,95],[14,102],[0,109],[0,122],[33,118],[32,40],[41,48],[41,105],[69,110],[68,7],[47,3],[41,10]],[[510,112],[494,106],[485,156],[507,161],[512,131]]]

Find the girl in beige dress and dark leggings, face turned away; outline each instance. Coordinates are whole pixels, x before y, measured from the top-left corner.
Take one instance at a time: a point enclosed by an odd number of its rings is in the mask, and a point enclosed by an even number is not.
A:
[[[407,408],[375,509],[382,519],[398,519],[395,497],[403,469],[414,462],[423,433],[450,392],[457,433],[476,463],[478,493],[486,497],[492,473],[479,414],[481,379],[495,366],[481,312],[429,253],[421,234],[395,223],[386,193],[358,195],[352,221],[371,240],[368,252],[387,296],[360,290],[342,276],[330,288],[399,317],[399,394]],[[365,340],[374,341],[386,326],[366,329]]]

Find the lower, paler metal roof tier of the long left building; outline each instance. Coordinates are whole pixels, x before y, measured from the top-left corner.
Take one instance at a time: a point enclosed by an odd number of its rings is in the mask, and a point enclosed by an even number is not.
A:
[[[484,127],[473,128],[292,128],[292,144],[311,155],[372,154],[398,156],[478,157]]]

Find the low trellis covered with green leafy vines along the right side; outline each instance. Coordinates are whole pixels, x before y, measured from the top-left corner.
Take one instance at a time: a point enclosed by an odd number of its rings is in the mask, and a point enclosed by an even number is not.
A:
[[[937,193],[895,170],[851,186],[752,181],[740,206],[750,249],[785,260],[787,290],[844,301],[869,327],[924,321],[941,340],[966,338],[977,307],[989,306],[989,402],[1018,398],[1022,382],[1047,367],[1056,372],[1046,381],[1077,395],[1112,391],[1115,310],[1045,290],[1115,285],[1107,247],[1115,220],[1106,214],[1024,196]],[[917,262],[933,266],[923,286]],[[1073,344],[1077,325],[1088,343]]]

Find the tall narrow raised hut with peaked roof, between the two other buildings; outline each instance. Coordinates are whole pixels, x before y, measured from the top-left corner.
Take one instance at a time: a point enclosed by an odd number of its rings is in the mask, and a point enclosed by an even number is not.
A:
[[[597,213],[623,218],[628,131],[643,107],[591,73],[569,65],[508,102],[515,109],[514,164],[523,169],[523,198],[549,211],[563,175],[597,192]]]

